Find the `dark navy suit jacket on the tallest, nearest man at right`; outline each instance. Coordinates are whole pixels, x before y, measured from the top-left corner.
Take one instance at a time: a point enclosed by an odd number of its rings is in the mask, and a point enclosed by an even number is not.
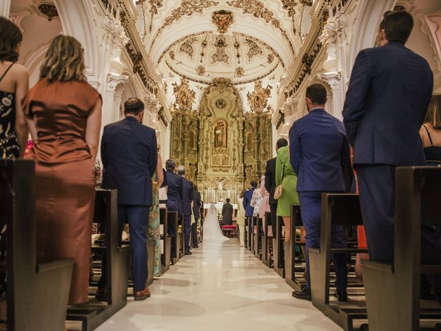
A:
[[[429,63],[402,43],[362,50],[343,110],[354,165],[424,165],[419,131],[432,90]]]

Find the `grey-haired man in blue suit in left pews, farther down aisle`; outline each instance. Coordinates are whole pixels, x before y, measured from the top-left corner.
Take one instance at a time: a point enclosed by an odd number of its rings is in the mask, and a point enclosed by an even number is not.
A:
[[[185,255],[192,255],[192,252],[190,252],[190,235],[192,232],[193,183],[185,178],[185,167],[183,165],[178,166],[178,175],[182,177],[183,182],[181,220],[185,238]]]

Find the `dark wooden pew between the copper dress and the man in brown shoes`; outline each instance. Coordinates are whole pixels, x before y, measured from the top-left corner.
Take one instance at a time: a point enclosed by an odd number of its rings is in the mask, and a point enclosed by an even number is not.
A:
[[[101,252],[107,259],[107,301],[90,299],[88,303],[68,307],[70,321],[81,321],[82,331],[98,328],[127,303],[130,272],[130,245],[119,246],[118,191],[96,190],[94,223],[105,224],[104,245],[92,246],[92,252]]]

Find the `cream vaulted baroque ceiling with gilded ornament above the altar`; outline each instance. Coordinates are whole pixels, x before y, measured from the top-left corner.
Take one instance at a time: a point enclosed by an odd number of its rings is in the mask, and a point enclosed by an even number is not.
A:
[[[275,94],[276,83],[287,76],[305,40],[302,21],[311,2],[142,0],[138,6],[145,48],[166,85],[185,79],[199,94],[201,86],[224,77],[238,86],[246,103],[255,82],[272,83]]]

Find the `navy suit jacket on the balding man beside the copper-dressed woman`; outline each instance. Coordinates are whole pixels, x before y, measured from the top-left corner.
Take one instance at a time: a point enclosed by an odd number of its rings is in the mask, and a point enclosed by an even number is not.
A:
[[[101,139],[103,188],[118,189],[118,203],[152,205],[152,175],[158,152],[152,128],[134,117],[104,127]]]

